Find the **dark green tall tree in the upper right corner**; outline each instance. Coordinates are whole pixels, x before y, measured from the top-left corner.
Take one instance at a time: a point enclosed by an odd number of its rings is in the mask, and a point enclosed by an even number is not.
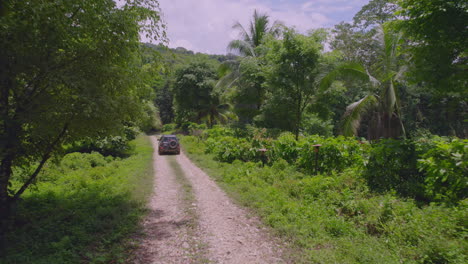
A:
[[[422,87],[420,107],[433,133],[468,136],[468,3],[455,0],[400,0],[400,26],[412,56],[408,79]],[[444,107],[441,107],[444,106]],[[439,109],[431,113],[432,109]],[[440,125],[437,125],[440,124]]]

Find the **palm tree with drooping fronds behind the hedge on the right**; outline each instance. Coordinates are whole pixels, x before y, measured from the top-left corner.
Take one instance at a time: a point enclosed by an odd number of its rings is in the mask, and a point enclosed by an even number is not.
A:
[[[351,75],[369,80],[379,88],[379,94],[368,94],[357,102],[350,104],[342,121],[342,133],[345,136],[357,135],[362,117],[370,114],[369,139],[405,137],[406,132],[401,119],[401,106],[398,98],[397,83],[403,77],[406,66],[400,66],[398,47],[401,34],[379,27],[376,38],[380,43],[379,60],[375,65],[377,78],[357,63],[346,63],[328,73],[321,82],[322,89],[330,85],[339,75]]]

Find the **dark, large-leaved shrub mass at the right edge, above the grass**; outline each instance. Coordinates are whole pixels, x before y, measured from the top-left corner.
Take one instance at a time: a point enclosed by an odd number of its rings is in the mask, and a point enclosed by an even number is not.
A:
[[[382,140],[373,144],[364,175],[378,191],[455,203],[466,198],[466,153],[466,140]]]

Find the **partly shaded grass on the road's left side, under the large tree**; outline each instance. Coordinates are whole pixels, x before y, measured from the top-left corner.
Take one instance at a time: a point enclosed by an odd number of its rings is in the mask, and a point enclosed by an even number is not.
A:
[[[70,153],[49,164],[0,238],[0,263],[126,263],[153,186],[149,138],[131,144],[125,159]]]

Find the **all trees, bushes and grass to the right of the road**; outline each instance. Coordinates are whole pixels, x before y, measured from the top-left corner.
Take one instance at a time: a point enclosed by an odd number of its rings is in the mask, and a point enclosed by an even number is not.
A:
[[[465,263],[466,10],[374,0],[307,34],[254,12],[238,57],[162,79],[163,131],[295,262]]]

